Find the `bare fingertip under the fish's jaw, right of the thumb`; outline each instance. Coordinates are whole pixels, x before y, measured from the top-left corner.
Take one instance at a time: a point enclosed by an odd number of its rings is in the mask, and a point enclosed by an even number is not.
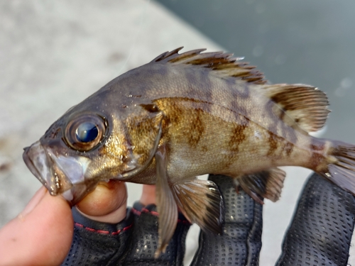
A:
[[[126,217],[127,189],[124,182],[100,182],[77,204],[77,209],[94,221],[119,223]]]

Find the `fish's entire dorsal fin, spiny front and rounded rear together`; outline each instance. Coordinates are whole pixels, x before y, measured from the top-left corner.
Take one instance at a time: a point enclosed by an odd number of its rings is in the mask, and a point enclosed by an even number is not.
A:
[[[152,62],[194,65],[205,67],[219,77],[235,77],[252,84],[261,84],[261,93],[275,102],[276,115],[295,130],[318,131],[327,120],[329,105],[327,95],[315,87],[305,84],[266,84],[263,74],[224,52],[203,52],[206,49],[191,50],[179,54],[182,47],[164,52]]]

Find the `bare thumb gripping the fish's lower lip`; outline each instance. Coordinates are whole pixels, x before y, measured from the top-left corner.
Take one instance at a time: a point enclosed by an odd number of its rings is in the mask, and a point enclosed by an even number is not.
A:
[[[42,187],[0,231],[1,265],[59,265],[72,242],[70,206]]]

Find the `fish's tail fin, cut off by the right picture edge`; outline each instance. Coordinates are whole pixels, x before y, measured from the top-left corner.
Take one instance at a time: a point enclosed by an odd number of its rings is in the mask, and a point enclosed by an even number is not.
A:
[[[355,195],[355,145],[334,141],[329,154],[336,162],[328,165],[328,172],[323,175],[342,189]]]

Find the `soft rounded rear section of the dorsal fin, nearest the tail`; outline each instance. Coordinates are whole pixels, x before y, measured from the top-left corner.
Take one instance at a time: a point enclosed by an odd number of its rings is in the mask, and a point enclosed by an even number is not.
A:
[[[319,131],[327,120],[327,94],[305,84],[266,84],[266,95],[280,109],[273,110],[289,126],[295,123],[306,132]],[[286,115],[285,115],[286,114]]]

